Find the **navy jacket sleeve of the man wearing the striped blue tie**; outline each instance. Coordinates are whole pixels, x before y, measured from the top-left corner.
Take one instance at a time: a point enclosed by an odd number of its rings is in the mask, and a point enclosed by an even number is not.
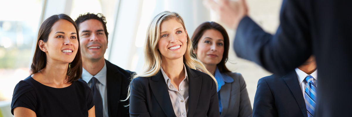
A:
[[[259,79],[254,96],[253,117],[277,117],[274,96],[264,78]]]

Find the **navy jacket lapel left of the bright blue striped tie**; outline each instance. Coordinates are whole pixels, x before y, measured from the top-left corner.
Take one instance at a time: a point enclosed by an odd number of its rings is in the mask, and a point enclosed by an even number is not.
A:
[[[302,110],[304,117],[308,117],[306,103],[304,102],[301,86],[298,82],[296,72],[292,71],[292,72],[288,73],[287,75],[283,76],[282,78],[285,80],[287,86],[290,88],[293,96],[296,99],[298,106]]]

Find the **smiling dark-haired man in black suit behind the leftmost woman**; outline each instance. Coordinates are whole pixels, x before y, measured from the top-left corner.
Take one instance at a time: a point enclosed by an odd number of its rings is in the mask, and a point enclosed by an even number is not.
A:
[[[121,69],[104,59],[108,44],[105,17],[98,13],[81,14],[78,26],[83,72],[82,79],[93,92],[96,117],[129,117],[124,106],[131,72]]]

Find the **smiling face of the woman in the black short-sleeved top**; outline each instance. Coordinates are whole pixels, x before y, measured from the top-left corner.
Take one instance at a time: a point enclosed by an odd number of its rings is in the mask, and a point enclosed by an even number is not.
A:
[[[79,46],[75,26],[67,20],[58,20],[51,27],[48,41],[44,43],[40,40],[39,46],[51,61],[71,63]]]

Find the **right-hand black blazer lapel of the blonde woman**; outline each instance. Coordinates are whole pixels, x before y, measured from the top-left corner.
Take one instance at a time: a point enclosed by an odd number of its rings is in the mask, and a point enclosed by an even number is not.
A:
[[[187,76],[188,76],[188,117],[193,117],[194,112],[197,108],[200,90],[202,88],[202,76],[198,76],[194,73],[186,64]]]

